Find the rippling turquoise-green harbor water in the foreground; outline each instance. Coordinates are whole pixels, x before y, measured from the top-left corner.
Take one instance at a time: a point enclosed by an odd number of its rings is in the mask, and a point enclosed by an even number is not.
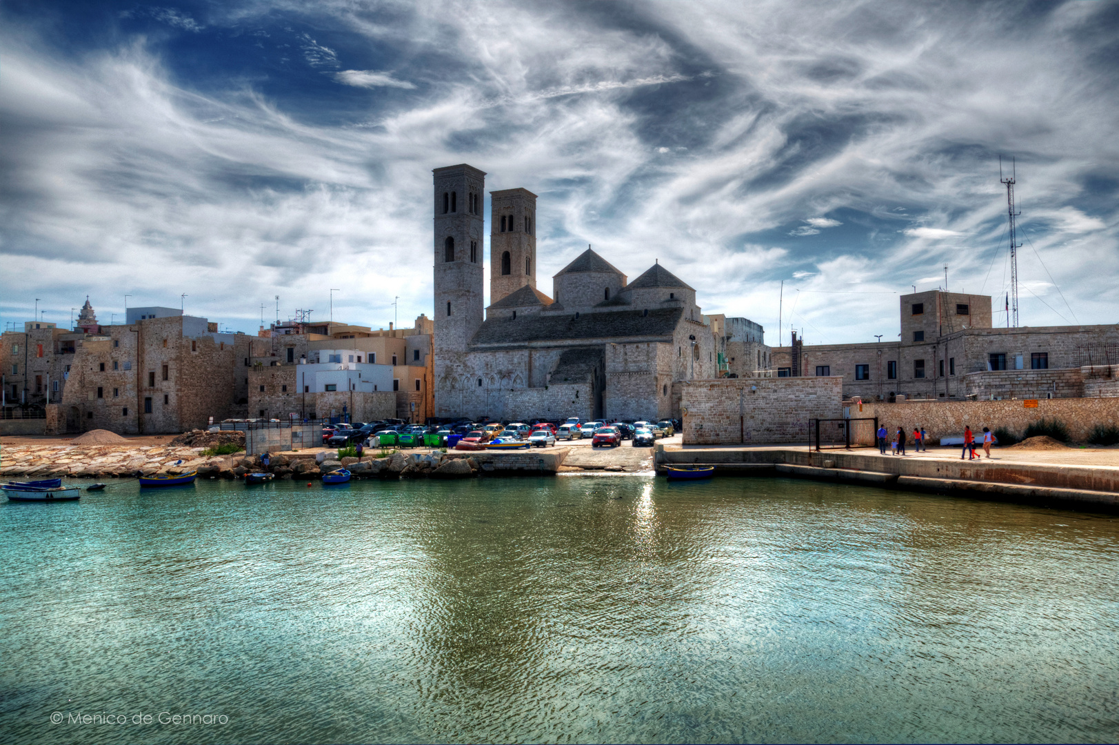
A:
[[[6,743],[1119,737],[1113,516],[763,478],[206,481],[0,504],[0,537]]]

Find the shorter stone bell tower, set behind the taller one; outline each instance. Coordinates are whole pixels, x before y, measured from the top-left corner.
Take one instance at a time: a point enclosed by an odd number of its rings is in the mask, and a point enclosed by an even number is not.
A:
[[[490,304],[525,285],[536,289],[536,195],[490,192]]]

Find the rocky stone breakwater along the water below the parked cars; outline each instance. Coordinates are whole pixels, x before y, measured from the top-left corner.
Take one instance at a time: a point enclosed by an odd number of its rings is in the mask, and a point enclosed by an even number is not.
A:
[[[271,472],[280,478],[309,478],[347,468],[356,478],[462,478],[511,472],[556,473],[567,450],[547,453],[394,453],[385,458],[322,458],[323,454],[273,455],[267,468],[256,456],[205,456],[205,448],[112,446],[13,446],[2,453],[0,477],[46,476],[85,478],[129,477],[137,473],[178,474],[197,471],[199,477],[241,478],[251,472]]]

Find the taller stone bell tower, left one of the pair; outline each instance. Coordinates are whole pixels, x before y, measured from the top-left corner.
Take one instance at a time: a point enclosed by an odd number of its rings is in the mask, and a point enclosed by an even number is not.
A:
[[[486,174],[461,164],[434,171],[435,376],[482,324]]]

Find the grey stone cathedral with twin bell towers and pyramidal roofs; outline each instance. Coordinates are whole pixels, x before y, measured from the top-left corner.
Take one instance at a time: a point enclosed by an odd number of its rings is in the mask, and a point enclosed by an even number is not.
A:
[[[464,164],[434,170],[435,416],[679,417],[675,384],[725,374],[730,337],[659,263],[630,282],[589,246],[552,278],[551,297],[540,291],[536,195],[524,188],[490,195],[483,307],[485,186]]]

